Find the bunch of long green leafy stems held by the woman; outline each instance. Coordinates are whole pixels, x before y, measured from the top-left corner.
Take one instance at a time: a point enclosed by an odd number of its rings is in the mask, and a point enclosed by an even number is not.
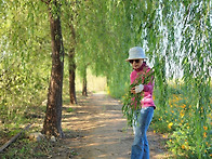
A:
[[[153,69],[146,72],[147,69],[148,68],[145,67],[143,71],[138,72],[137,78],[132,84],[130,84],[125,95],[123,96],[122,112],[123,116],[128,119],[128,125],[131,127],[135,122],[135,120],[133,120],[133,114],[135,112],[135,110],[142,107],[141,100],[144,97],[144,91],[142,91],[142,93],[133,94],[131,93],[131,89],[138,84],[148,84],[150,81],[154,80]]]

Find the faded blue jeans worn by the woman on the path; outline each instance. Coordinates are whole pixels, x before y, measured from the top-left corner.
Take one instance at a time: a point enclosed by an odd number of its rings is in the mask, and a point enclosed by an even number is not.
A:
[[[145,107],[134,112],[134,142],[132,145],[131,159],[149,159],[149,147],[146,132],[153,117],[154,107]]]

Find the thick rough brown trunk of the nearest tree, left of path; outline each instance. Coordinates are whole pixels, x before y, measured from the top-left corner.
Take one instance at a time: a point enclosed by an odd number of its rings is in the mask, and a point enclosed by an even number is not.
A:
[[[53,11],[54,9],[54,11]],[[42,133],[47,136],[63,137],[62,92],[64,71],[64,47],[62,39],[59,4],[57,0],[49,3],[49,17],[52,37],[52,71],[49,85],[48,104]]]

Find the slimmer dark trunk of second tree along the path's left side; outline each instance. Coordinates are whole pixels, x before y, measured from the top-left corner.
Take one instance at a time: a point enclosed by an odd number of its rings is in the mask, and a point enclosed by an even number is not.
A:
[[[69,62],[69,96],[70,96],[70,104],[77,104],[76,97],[76,90],[75,90],[75,70],[76,64],[74,59],[75,50],[69,53],[68,62]]]

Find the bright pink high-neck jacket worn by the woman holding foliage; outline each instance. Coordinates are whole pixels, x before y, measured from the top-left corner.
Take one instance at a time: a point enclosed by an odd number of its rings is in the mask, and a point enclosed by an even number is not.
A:
[[[131,79],[131,84],[134,82],[134,80],[138,77],[138,72],[142,72],[144,71],[144,67],[147,68],[147,71],[150,71],[150,67],[148,67],[146,65],[146,63],[144,62],[142,64],[142,66],[137,69],[137,70],[133,70],[130,75],[130,79]],[[141,83],[137,83],[137,84],[141,84]],[[142,107],[149,107],[149,106],[154,106],[156,108],[156,105],[154,104],[154,100],[153,100],[153,92],[154,92],[154,80],[153,81],[149,81],[149,83],[147,84],[144,84],[144,90],[141,94],[144,93],[144,97],[143,100],[141,101],[141,106]]]

